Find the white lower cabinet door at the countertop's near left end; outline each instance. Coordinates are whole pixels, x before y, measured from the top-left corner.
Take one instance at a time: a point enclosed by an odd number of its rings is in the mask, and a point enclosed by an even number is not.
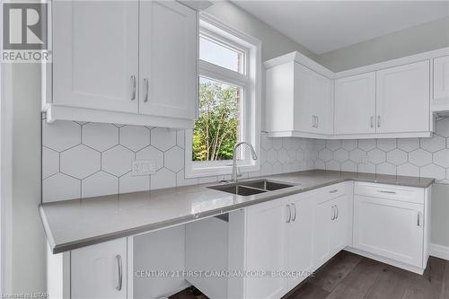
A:
[[[127,298],[126,238],[71,251],[70,259],[72,299]]]

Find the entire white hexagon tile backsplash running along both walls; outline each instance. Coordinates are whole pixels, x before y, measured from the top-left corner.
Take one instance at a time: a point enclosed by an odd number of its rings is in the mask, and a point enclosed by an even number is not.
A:
[[[131,176],[133,160],[154,160],[156,173]],[[364,163],[364,160],[366,163]],[[435,177],[449,182],[449,119],[432,138],[312,140],[261,135],[260,171],[246,177],[327,169]],[[184,130],[42,121],[44,202],[229,179],[184,178]]]

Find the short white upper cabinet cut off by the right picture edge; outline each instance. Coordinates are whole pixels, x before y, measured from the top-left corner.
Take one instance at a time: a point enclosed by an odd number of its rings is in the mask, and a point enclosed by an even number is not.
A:
[[[432,110],[449,110],[449,56],[434,59]]]

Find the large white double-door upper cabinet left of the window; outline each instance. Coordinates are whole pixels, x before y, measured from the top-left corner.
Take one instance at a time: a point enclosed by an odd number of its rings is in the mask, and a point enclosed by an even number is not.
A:
[[[176,1],[54,1],[43,110],[56,119],[192,128],[198,13]]]

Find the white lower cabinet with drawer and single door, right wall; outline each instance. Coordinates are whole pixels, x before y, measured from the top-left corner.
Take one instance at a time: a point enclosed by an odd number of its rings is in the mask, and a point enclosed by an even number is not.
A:
[[[374,189],[377,189],[377,195],[373,194]],[[426,193],[421,190],[357,186],[354,247],[386,259],[426,268],[428,254],[425,246],[429,234],[426,215],[429,214],[429,206]]]

